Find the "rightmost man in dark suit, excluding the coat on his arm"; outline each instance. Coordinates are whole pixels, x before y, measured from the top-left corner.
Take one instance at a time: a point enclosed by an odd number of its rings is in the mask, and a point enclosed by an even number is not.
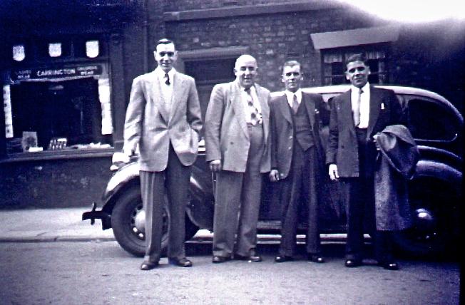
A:
[[[389,232],[377,231],[374,215],[374,135],[402,123],[402,108],[393,91],[368,83],[369,66],[362,54],[347,58],[351,90],[334,98],[329,120],[326,162],[331,180],[339,180],[347,212],[346,267],[362,264],[364,229],[374,239],[380,266],[397,270]],[[364,224],[366,227],[364,227]]]

